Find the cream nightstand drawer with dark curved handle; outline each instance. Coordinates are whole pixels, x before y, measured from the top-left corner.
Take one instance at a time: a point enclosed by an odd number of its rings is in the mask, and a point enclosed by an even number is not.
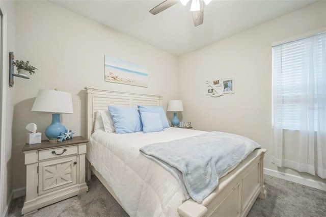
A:
[[[71,154],[77,154],[77,146],[66,146],[60,148],[51,148],[39,151],[39,160],[62,157]]]

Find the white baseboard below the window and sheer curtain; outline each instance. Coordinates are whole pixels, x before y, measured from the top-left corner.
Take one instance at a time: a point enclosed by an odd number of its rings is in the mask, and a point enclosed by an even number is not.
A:
[[[295,176],[295,175],[291,175],[291,174],[286,174],[286,173],[282,173],[276,170],[270,170],[267,168],[264,168],[264,174],[269,175],[269,176],[274,176],[276,178],[280,178],[280,179],[285,179],[288,181],[292,181],[298,184],[303,184],[303,185],[307,185],[309,187],[314,187],[317,188],[319,190],[325,191],[326,192],[326,183],[323,182],[318,182],[312,179],[305,179],[303,177],[300,176]]]

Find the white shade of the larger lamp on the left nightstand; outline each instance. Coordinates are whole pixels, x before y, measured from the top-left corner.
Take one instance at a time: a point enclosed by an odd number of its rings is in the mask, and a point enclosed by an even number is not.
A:
[[[58,90],[39,90],[32,111],[72,114],[71,94]]]

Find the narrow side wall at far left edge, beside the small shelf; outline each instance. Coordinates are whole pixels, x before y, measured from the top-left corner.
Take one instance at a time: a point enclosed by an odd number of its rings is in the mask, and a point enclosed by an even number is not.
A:
[[[15,92],[12,88],[9,88],[9,51],[15,51],[15,4],[13,1],[2,1],[2,8],[5,10],[6,17],[6,25],[7,25],[7,43],[5,48],[4,55],[6,56],[6,62],[2,63],[5,65],[5,71],[3,72],[3,84],[4,84],[4,94],[5,94],[5,124],[4,127],[4,144],[1,144],[2,156],[4,159],[1,159],[1,164],[3,167],[2,180],[0,181],[2,188],[2,195],[0,195],[1,199],[1,210],[0,215],[4,216],[6,212],[8,212],[9,203],[12,198],[12,190],[13,190],[13,158],[12,158],[12,121],[13,121],[13,103],[12,98],[15,95]]]

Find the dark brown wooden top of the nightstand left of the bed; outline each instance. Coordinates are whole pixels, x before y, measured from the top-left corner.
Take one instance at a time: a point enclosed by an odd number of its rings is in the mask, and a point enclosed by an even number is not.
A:
[[[22,151],[31,151],[31,150],[38,150],[38,149],[45,149],[45,148],[56,148],[60,146],[69,146],[69,145],[75,145],[79,143],[87,143],[88,140],[84,137],[74,137],[69,140],[64,140],[62,142],[49,142],[48,140],[42,140],[41,143],[38,144],[25,144],[22,148]]]

